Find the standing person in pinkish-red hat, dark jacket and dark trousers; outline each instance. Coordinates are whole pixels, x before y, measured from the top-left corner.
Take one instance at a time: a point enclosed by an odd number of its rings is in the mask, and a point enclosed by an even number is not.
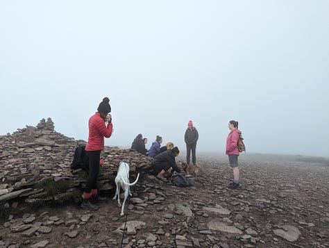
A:
[[[185,143],[186,143],[186,163],[189,165],[189,157],[192,151],[192,163],[196,165],[196,142],[199,139],[199,133],[193,126],[193,122],[189,121],[187,124],[187,129],[185,131]]]

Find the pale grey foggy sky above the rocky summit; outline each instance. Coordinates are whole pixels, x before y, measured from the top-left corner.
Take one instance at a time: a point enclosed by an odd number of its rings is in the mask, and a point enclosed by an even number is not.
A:
[[[328,156],[329,1],[0,0],[0,135],[51,117],[87,140],[110,98],[107,145],[138,133],[225,151]]]

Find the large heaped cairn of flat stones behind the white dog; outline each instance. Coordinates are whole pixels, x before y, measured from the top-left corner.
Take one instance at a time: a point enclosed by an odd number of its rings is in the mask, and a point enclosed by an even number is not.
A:
[[[81,197],[87,172],[71,170],[74,151],[84,140],[57,133],[51,118],[34,126],[0,136],[0,217],[18,204],[56,204]],[[101,153],[99,190],[115,188],[119,162],[129,163],[130,176],[151,165],[135,150],[105,147]],[[11,205],[10,205],[11,204]]]

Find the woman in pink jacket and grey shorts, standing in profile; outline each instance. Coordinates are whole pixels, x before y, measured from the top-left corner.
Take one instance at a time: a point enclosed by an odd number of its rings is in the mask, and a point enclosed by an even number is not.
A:
[[[239,156],[239,150],[237,149],[237,140],[239,140],[238,122],[230,121],[228,122],[228,138],[226,139],[226,154],[228,155],[228,160],[230,161],[230,167],[233,168],[233,182],[228,185],[228,188],[235,189],[239,188],[239,167],[237,163],[237,156]]]

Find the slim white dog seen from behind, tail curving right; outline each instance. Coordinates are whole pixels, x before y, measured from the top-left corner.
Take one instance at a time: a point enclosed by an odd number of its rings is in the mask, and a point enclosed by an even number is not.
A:
[[[124,202],[122,203],[121,207],[121,216],[124,215],[124,204],[126,203],[126,199],[128,198],[128,195],[131,195],[130,192],[130,186],[137,183],[138,179],[140,177],[140,173],[137,174],[137,179],[133,183],[129,183],[129,165],[128,163],[125,163],[121,161],[119,163],[119,170],[117,173],[117,176],[115,177],[115,185],[117,185],[117,190],[115,192],[115,197],[113,199],[118,197],[118,205],[121,206],[120,203],[120,188],[124,190]]]

